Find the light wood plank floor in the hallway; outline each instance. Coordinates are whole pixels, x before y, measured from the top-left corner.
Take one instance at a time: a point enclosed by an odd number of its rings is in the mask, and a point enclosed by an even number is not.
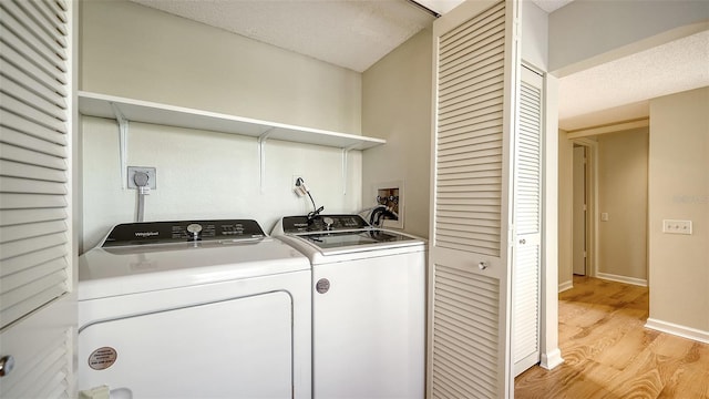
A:
[[[564,364],[520,375],[515,398],[709,399],[709,345],[644,328],[647,288],[574,276],[558,313]]]

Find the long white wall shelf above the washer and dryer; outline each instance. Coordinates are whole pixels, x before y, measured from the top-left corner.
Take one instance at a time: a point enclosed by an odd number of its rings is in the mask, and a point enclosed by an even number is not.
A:
[[[215,112],[173,106],[147,101],[80,91],[79,112],[83,115],[116,119],[114,108],[132,122],[188,127],[253,137],[267,134],[268,140],[325,145],[343,150],[367,150],[386,140],[356,134],[266,122]]]

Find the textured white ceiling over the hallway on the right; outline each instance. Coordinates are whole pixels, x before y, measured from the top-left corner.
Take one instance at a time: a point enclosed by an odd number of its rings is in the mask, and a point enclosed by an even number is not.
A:
[[[709,85],[709,31],[559,80],[559,127],[577,130],[649,115],[648,100]]]

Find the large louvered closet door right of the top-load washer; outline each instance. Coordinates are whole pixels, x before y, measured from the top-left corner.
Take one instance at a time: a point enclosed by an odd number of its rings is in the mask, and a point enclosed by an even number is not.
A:
[[[467,1],[434,22],[431,398],[504,398],[511,377],[516,1]]]

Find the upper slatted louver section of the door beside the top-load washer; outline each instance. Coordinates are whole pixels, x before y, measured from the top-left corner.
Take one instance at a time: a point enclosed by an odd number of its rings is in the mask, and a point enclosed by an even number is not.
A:
[[[440,40],[436,245],[500,256],[505,4]]]

